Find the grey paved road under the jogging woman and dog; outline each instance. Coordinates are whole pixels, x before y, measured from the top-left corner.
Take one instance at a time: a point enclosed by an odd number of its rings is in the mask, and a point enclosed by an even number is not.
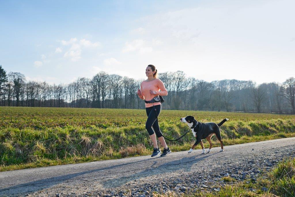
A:
[[[131,157],[81,164],[69,164],[0,172],[0,196],[78,195],[89,192],[128,189],[132,185],[192,177],[206,170],[225,170],[257,157],[283,156],[295,150],[295,138],[260,141],[201,150],[173,152],[167,157]],[[254,150],[253,150],[254,149]],[[207,151],[207,149],[206,149]],[[290,154],[290,152],[289,152]],[[286,154],[287,155],[287,154]]]

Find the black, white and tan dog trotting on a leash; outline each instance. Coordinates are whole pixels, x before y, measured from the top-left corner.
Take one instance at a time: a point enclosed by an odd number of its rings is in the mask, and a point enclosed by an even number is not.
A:
[[[186,116],[185,118],[180,118],[180,121],[188,124],[188,126],[191,128],[191,132],[194,134],[196,138],[196,143],[191,147],[188,153],[193,152],[194,148],[200,143],[202,146],[202,154],[205,154],[206,150],[204,148],[202,139],[207,139],[209,141],[210,143],[210,148],[208,149],[208,153],[209,153],[212,148],[211,137],[213,134],[216,135],[217,139],[219,140],[221,144],[220,152],[224,150],[219,127],[222,126],[223,123],[228,121],[227,118],[225,118],[219,124],[212,123],[212,122],[201,123],[196,121],[194,116],[191,116],[191,115]]]

